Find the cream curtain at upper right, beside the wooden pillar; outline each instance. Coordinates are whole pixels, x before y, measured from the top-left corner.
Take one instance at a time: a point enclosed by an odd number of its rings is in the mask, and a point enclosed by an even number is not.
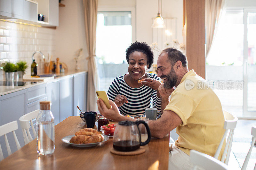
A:
[[[225,0],[205,0],[206,57],[216,34]]]

